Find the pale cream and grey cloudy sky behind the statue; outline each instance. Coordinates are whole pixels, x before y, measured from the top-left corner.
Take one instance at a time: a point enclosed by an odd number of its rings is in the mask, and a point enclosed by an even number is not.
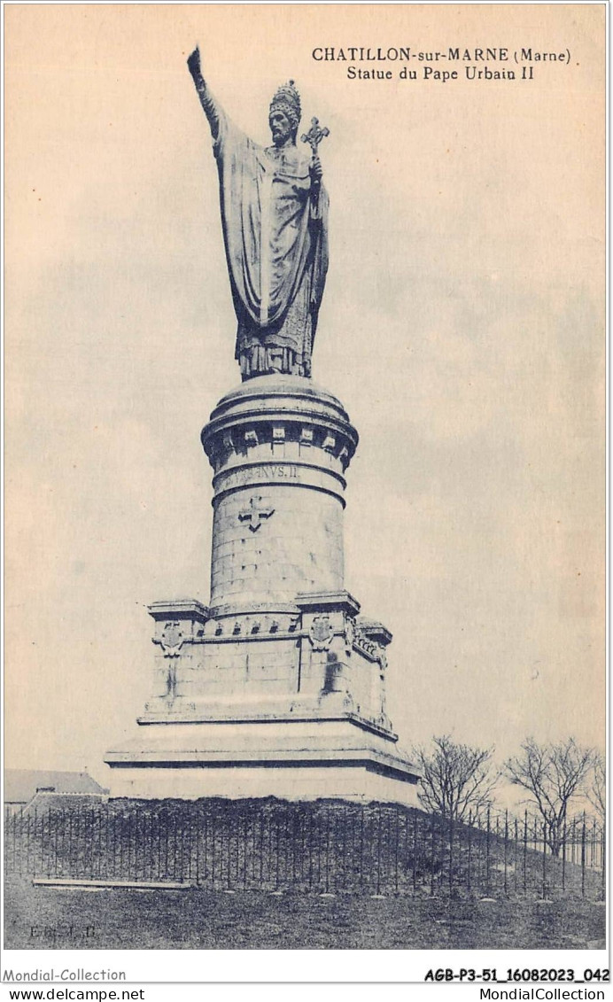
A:
[[[331,130],[314,378],[361,435],[346,587],[394,634],[401,742],[603,746],[604,7],[17,5],[5,22],[6,765],[108,782],[148,694],[147,604],[208,599],[199,432],[239,376],[196,42],[256,141],[288,78],[303,125]],[[518,76],[522,47],[568,59],[530,81],[454,63],[443,82],[419,59],[416,80],[393,62],[360,80],[313,58],[401,45],[507,47]]]

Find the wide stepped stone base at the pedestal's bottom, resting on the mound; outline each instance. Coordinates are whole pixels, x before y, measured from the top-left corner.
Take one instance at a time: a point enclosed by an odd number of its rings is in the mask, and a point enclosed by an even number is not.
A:
[[[417,805],[418,776],[409,760],[393,741],[348,719],[143,729],[131,746],[106,757],[111,797]]]

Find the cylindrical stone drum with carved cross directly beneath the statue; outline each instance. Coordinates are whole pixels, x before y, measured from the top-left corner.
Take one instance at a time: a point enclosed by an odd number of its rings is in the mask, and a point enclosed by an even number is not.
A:
[[[211,613],[344,587],[344,474],[357,443],[342,404],[311,380],[260,376],[221,399],[202,431],[214,470]]]

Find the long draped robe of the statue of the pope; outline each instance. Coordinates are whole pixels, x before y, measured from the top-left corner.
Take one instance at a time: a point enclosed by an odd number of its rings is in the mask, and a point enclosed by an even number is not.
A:
[[[328,271],[328,195],[310,156],[252,142],[215,103],[213,151],[243,379],[311,375]],[[214,135],[214,132],[213,132]]]

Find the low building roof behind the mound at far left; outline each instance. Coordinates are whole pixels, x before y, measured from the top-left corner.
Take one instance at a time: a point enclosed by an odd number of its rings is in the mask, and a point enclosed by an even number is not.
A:
[[[4,771],[4,810],[11,815],[34,806],[48,806],[50,799],[79,798],[79,803],[86,803],[107,797],[108,790],[87,773],[38,769]]]

